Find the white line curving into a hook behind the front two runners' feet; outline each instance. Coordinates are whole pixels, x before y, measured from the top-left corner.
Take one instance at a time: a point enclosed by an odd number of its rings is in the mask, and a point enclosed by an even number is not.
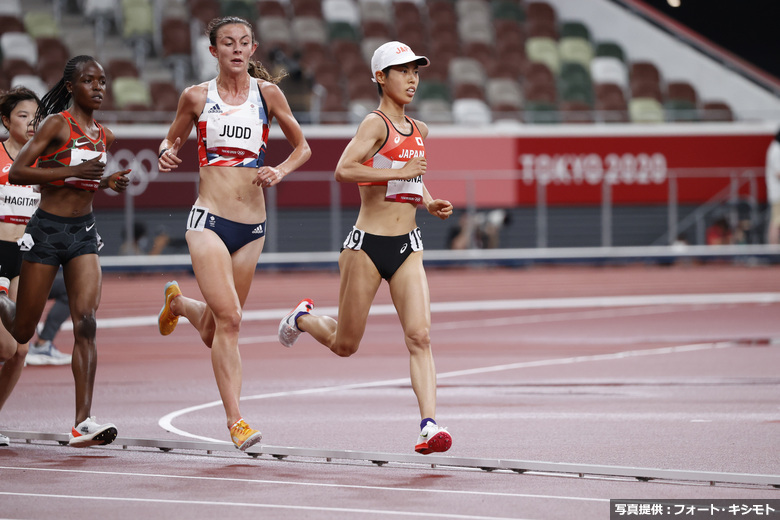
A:
[[[726,348],[731,347],[734,344],[732,342],[721,343],[696,343],[692,345],[680,345],[676,347],[662,347],[644,350],[629,350],[624,352],[615,352],[612,354],[594,354],[590,356],[575,356],[568,358],[553,358],[553,359],[540,359],[537,361],[523,361],[519,363],[508,363],[503,365],[493,365],[488,367],[472,368],[468,370],[455,370],[452,372],[442,372],[437,374],[437,379],[448,379],[452,377],[462,377],[475,374],[487,374],[493,372],[503,372],[506,370],[519,370],[523,368],[534,368],[542,366],[554,366],[554,365],[570,365],[574,363],[585,363],[590,361],[611,361],[615,359],[625,359],[630,357],[639,356],[655,356],[674,354],[678,352],[692,352],[696,350],[708,350],[713,348]],[[397,385],[411,385],[411,381],[408,377],[399,379],[386,379],[381,381],[368,381],[364,383],[351,383],[346,385],[325,386],[318,388],[304,388],[301,390],[288,390],[283,392],[272,392],[268,394],[249,395],[241,398],[241,401],[253,401],[257,399],[271,399],[275,397],[289,397],[293,395],[311,395],[311,394],[323,394],[326,392],[337,392],[342,390],[355,390],[359,388],[373,388],[380,386],[397,386]],[[227,443],[224,440],[213,439],[211,437],[204,437],[196,435],[184,430],[181,430],[173,425],[173,420],[186,415],[191,412],[204,410],[215,406],[221,406],[222,401],[211,401],[210,403],[204,403],[200,405],[190,406],[181,410],[175,410],[167,415],[164,415],[157,421],[157,424],[164,430],[182,437],[189,437],[191,439],[200,439],[209,442]]]

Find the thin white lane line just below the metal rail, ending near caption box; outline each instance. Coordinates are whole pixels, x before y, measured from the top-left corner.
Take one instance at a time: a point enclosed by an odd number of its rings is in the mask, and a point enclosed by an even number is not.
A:
[[[588,497],[572,497],[562,495],[536,495],[530,493],[500,493],[497,491],[459,491],[452,489],[430,489],[430,488],[410,488],[410,487],[389,487],[389,486],[365,486],[357,484],[327,484],[324,482],[301,482],[300,480],[268,480],[268,479],[247,479],[247,478],[231,478],[231,477],[204,477],[197,475],[165,475],[161,473],[137,473],[137,472],[125,472],[125,471],[94,471],[94,470],[80,470],[80,469],[62,469],[62,468],[17,468],[10,466],[0,466],[0,470],[16,470],[16,471],[41,471],[41,472],[55,472],[55,473],[73,473],[81,475],[111,475],[119,477],[140,477],[144,479],[181,479],[181,480],[203,480],[203,481],[217,481],[217,482],[240,482],[245,484],[271,484],[282,486],[302,486],[313,488],[338,488],[338,489],[355,489],[361,491],[389,491],[392,493],[430,493],[430,494],[443,494],[443,495],[475,495],[486,497],[502,497],[502,498],[540,498],[540,499],[554,499],[554,500],[574,500],[583,502],[609,502],[609,499],[605,498],[588,498]]]

